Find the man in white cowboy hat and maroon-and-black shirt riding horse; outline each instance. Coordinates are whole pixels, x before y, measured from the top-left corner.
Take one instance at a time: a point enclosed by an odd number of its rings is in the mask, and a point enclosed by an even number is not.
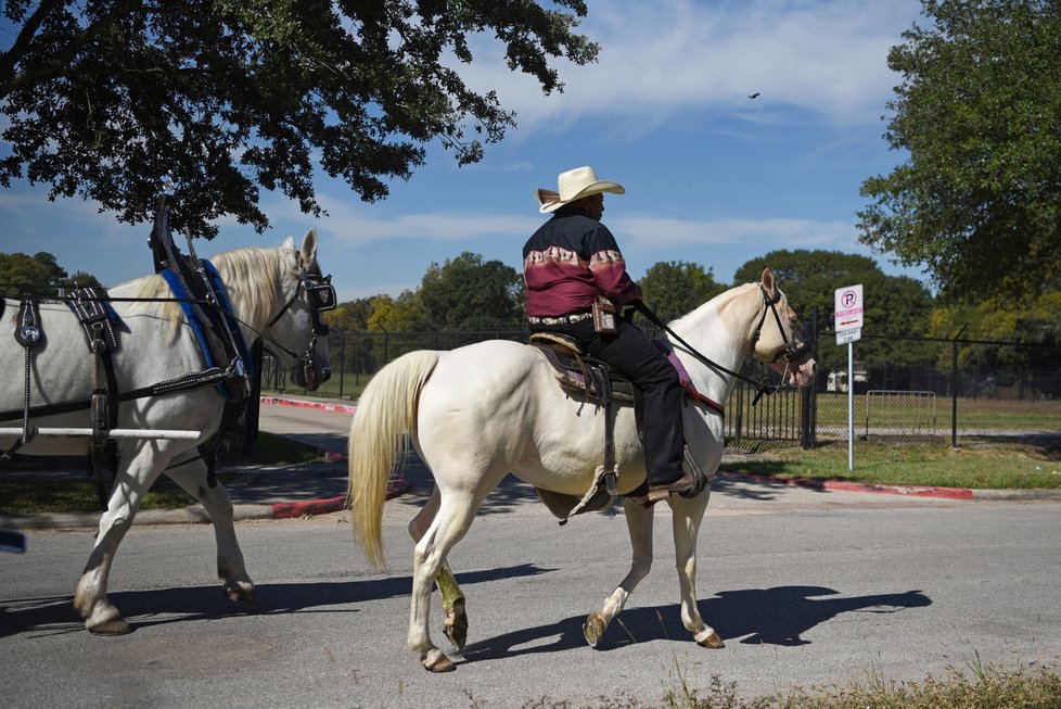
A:
[[[695,483],[681,465],[681,385],[663,352],[614,314],[616,306],[641,300],[641,287],[626,273],[615,238],[600,221],[604,192],[626,190],[597,179],[592,167],[561,173],[557,181],[555,192],[537,190],[539,211],[553,216],[523,246],[527,322],[532,332],[576,340],[642,391],[648,476],[628,496],[648,506]]]

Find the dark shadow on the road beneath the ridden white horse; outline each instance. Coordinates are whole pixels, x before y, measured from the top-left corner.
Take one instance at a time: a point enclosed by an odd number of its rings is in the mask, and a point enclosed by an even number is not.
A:
[[[820,586],[777,586],[747,591],[724,591],[698,606],[706,622],[725,641],[796,646],[810,629],[846,612],[894,613],[921,608],[932,600],[920,591],[873,594],[844,598],[839,591]],[[609,651],[654,641],[689,638],[677,604],[628,608],[609,626],[597,649]],[[572,616],[554,623],[513,631],[472,643],[462,653],[465,662],[498,660],[538,653],[559,653],[581,647],[586,616]]]

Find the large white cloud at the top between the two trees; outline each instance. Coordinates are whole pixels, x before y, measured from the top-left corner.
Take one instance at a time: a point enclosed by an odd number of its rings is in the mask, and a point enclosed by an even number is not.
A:
[[[459,68],[477,90],[497,89],[523,137],[586,117],[643,132],[688,112],[777,121],[793,106],[849,125],[883,113],[898,84],[887,50],[919,11],[917,0],[598,3],[578,31],[601,45],[599,61],[558,62],[562,94],[542,97],[534,79],[509,72],[485,37],[476,62]]]

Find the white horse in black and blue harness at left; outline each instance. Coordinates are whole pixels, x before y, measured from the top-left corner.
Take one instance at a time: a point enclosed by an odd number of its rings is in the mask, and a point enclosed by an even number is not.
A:
[[[320,276],[316,231],[307,232],[297,250],[289,237],[279,248],[237,249],[215,256],[212,263],[225,284],[244,340],[250,343],[261,337],[284,366],[292,368],[292,377],[299,385],[315,389],[327,379],[327,334],[324,328],[318,327],[319,312],[307,301]],[[122,322],[119,349],[113,354],[119,393],[206,369],[192,328],[179,303],[172,302],[172,293],[162,277],[146,276],[123,283],[111,289],[110,295]],[[4,372],[0,380],[0,410],[23,408],[27,378],[34,406],[89,398],[95,389],[95,358],[71,309],[63,303],[40,304],[43,341],[33,349],[27,372],[25,351],[12,337],[20,303],[5,300],[4,304],[8,317],[2,321],[8,332],[0,333],[0,371]],[[208,387],[117,405],[116,429],[191,430],[201,434],[194,440],[117,440],[114,486],[74,596],[74,606],[89,631],[104,635],[129,631],[122,613],[107,599],[107,575],[118,544],[161,472],[202,503],[209,515],[217,539],[218,575],[228,597],[254,603],[254,584],[235,539],[232,503],[220,483],[213,488],[208,484],[206,464],[196,451],[220,426],[223,404],[222,394]],[[8,427],[15,423],[22,421],[3,421]],[[84,428],[90,426],[90,417],[80,410],[34,417],[30,423],[40,428]],[[16,441],[10,434],[0,435],[0,451],[10,451]],[[86,438],[38,435],[18,447],[17,453],[86,455],[88,446]]]

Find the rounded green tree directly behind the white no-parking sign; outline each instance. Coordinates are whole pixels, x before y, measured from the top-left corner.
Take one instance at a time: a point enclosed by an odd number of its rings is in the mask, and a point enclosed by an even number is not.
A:
[[[835,346],[832,314],[835,292],[844,286],[862,284],[865,327],[858,359],[869,366],[909,366],[931,363],[932,347],[896,338],[924,331],[932,296],[919,281],[907,276],[886,276],[872,258],[839,251],[775,251],[753,258],[737,269],[738,283],[756,282],[769,267],[789,305],[804,320],[818,308],[818,364],[823,369],[846,367],[846,351]],[[828,333],[828,334],[824,334]]]

